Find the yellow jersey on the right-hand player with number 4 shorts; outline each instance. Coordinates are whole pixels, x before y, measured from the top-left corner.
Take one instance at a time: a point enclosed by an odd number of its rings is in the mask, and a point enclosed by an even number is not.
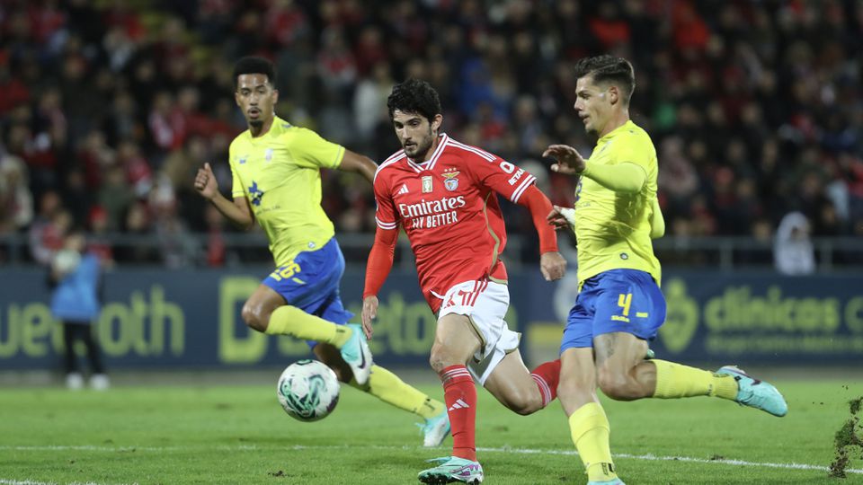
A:
[[[639,269],[660,282],[662,269],[654,256],[651,218],[659,167],[656,150],[644,129],[628,120],[601,137],[590,164],[635,163],[646,173],[636,193],[616,192],[583,176],[575,192],[575,238],[578,280],[583,282],[610,269]]]

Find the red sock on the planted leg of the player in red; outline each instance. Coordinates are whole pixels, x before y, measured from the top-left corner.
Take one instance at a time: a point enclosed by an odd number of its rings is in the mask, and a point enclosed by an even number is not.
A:
[[[560,374],[560,365],[557,366]],[[466,366],[440,371],[443,397],[452,427],[452,455],[476,462],[476,386]],[[555,381],[556,382],[556,381]]]

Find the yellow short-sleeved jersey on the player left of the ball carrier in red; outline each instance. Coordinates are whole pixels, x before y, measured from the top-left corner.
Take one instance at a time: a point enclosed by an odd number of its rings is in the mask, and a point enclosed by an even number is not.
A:
[[[231,143],[231,194],[248,199],[277,267],[335,235],[321,207],[320,169],[337,168],[343,156],[343,146],[279,117],[261,137],[246,130]]]

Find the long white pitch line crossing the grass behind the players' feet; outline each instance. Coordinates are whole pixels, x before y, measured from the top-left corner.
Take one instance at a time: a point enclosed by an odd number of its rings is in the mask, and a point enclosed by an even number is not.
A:
[[[339,450],[351,449],[357,446],[341,445],[341,446],[316,446],[316,445],[293,445],[293,446],[267,446],[261,447],[257,445],[238,445],[227,446],[219,445],[213,447],[191,447],[191,446],[93,446],[93,445],[50,445],[50,446],[0,446],[0,450],[15,450],[15,451],[95,451],[95,452],[166,452],[166,451],[183,451],[194,449],[212,450],[236,450],[236,451],[254,451],[267,449],[293,449],[293,450]],[[370,445],[362,446],[364,449],[378,450],[414,450],[424,449],[418,446],[383,446]],[[575,450],[542,450],[536,448],[476,448],[476,451],[485,453],[512,453],[512,454],[558,454],[565,456],[576,456],[578,452]],[[728,460],[725,458],[716,460],[707,460],[706,458],[695,458],[692,456],[662,456],[655,454],[614,454],[617,458],[628,458],[632,460],[643,460],[648,462],[688,462],[688,463],[707,463],[707,464],[729,464],[739,466],[752,466],[756,468],[779,468],[785,470],[818,470],[828,472],[829,467],[823,465],[814,465],[808,463],[770,463],[770,462],[749,462],[746,460]],[[863,469],[848,468],[847,473],[863,474]],[[0,485],[47,485],[38,481],[4,481],[0,479]]]

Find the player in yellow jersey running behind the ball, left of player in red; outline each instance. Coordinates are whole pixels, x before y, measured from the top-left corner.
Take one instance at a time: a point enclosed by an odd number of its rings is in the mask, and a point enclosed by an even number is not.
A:
[[[424,445],[440,445],[449,434],[446,406],[372,364],[365,334],[348,324],[353,314],[339,295],[344,258],[321,207],[320,170],[359,173],[370,183],[378,165],[275,116],[275,76],[262,57],[234,67],[234,97],[249,129],[229,150],[233,200],[219,192],[209,163],[195,178],[222,215],[244,228],[257,220],[270,242],[276,269],[245,302],[243,320],[256,331],[308,340],[339,380],[423,417]]]

